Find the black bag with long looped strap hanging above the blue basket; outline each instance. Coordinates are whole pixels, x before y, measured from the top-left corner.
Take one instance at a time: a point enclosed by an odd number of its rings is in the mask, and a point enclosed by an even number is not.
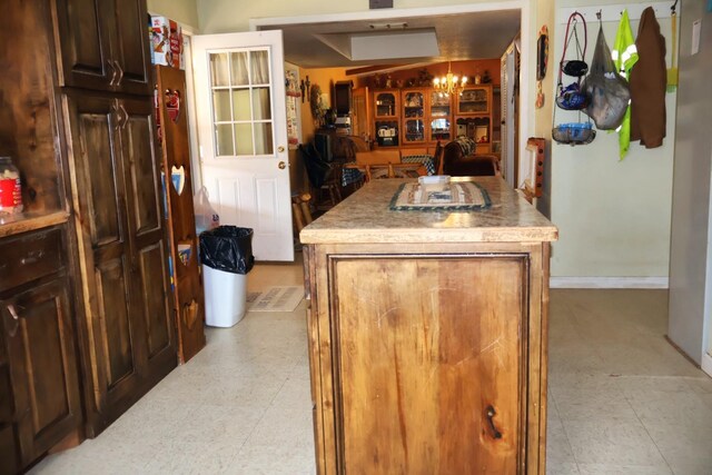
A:
[[[581,48],[581,42],[578,41],[578,31],[576,30],[578,19],[581,19],[584,31],[583,48]],[[586,62],[584,61],[587,46],[586,33],[586,20],[581,13],[574,11],[568,17],[568,22],[566,23],[564,51],[562,53],[561,61],[558,62],[558,93],[556,95],[556,106],[565,110],[581,110],[589,105],[589,97],[581,88],[581,78],[589,71],[589,65],[586,65]],[[566,59],[566,51],[572,40],[574,40],[575,42],[576,59]],[[564,73],[566,76],[573,76],[577,79],[571,85],[564,87]]]

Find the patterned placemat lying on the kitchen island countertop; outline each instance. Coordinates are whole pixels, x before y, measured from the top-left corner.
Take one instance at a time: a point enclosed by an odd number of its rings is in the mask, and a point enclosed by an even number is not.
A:
[[[486,209],[491,205],[487,191],[468,181],[451,182],[441,188],[403,184],[390,200],[390,209],[394,211],[456,211]]]

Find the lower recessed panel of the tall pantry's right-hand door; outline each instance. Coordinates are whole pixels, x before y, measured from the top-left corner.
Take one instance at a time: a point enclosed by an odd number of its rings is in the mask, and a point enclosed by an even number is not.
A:
[[[166,249],[162,243],[148,246],[140,251],[140,280],[149,358],[166,349],[171,343],[171,319],[167,295],[164,291],[165,259]]]

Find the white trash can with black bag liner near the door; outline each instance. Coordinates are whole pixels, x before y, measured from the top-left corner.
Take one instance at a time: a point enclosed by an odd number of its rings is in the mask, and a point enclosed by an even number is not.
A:
[[[255,265],[253,235],[237,226],[200,232],[206,325],[231,327],[245,316],[247,274]]]

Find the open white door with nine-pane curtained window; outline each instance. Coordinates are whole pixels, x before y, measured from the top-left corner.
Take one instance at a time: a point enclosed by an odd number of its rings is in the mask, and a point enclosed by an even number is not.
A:
[[[257,260],[294,260],[281,31],[192,37],[202,184]]]

